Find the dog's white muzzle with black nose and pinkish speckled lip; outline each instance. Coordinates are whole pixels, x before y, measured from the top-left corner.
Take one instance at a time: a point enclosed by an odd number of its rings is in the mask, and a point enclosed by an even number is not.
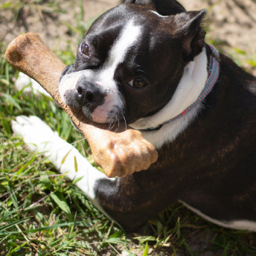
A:
[[[74,109],[79,109],[90,121],[108,124],[124,121],[124,103],[117,89],[89,79],[85,71],[65,74],[60,80],[60,96]]]

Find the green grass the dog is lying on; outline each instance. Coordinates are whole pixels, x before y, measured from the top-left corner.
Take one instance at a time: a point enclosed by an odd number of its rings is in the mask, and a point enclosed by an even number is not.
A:
[[[77,15],[83,17],[83,10]],[[85,32],[78,20],[71,29]],[[144,234],[121,231],[48,159],[13,136],[10,122],[16,116],[36,115],[94,164],[89,145],[65,112],[47,97],[16,91],[18,72],[4,60],[5,48],[0,45],[0,255],[256,254],[255,234],[208,223],[179,203],[150,220]],[[240,65],[255,70],[256,57],[232,51]],[[74,60],[69,46],[56,54],[65,64]]]

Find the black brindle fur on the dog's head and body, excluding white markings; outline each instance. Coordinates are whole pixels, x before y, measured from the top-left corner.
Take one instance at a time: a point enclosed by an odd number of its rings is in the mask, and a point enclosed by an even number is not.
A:
[[[159,22],[144,12],[149,9],[169,16]],[[169,102],[185,65],[205,46],[200,26],[204,15],[205,10],[185,12],[176,1],[125,1],[100,16],[81,42],[93,45],[91,59],[77,51],[76,62],[65,72],[103,65],[132,16],[147,25],[115,71],[115,80],[130,123],[153,115]],[[209,60],[208,45],[206,52]],[[135,231],[177,199],[216,220],[256,222],[256,79],[228,57],[220,59],[220,77],[202,111],[172,143],[161,147],[158,161],[149,170],[95,185],[98,202],[125,230]],[[147,88],[127,86],[132,77],[143,75],[135,74],[135,64],[146,74]]]

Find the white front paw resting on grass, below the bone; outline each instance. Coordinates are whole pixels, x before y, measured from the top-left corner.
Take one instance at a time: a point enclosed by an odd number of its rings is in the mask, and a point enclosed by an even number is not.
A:
[[[57,133],[53,132],[47,124],[36,116],[26,117],[18,116],[16,121],[12,121],[14,134],[21,135],[31,151],[43,151],[48,142],[52,140]]]

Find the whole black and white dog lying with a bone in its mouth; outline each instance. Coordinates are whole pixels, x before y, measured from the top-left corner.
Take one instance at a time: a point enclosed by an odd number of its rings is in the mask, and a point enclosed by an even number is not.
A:
[[[88,118],[141,130],[159,152],[150,169],[108,179],[39,118],[13,121],[31,150],[83,176],[77,186],[127,231],[178,199],[218,225],[256,230],[256,79],[205,44],[204,15],[127,0],[92,24],[60,79],[65,103]]]

